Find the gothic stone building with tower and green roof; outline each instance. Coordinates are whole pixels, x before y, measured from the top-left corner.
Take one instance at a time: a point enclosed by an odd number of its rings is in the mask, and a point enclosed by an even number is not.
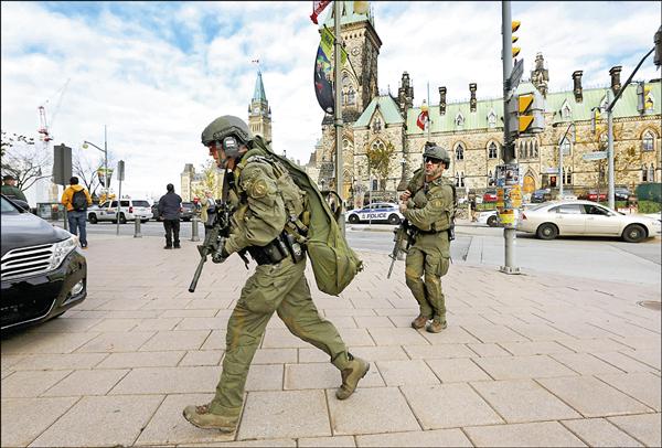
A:
[[[489,189],[501,163],[503,143],[502,98],[479,99],[478,86],[469,84],[470,100],[447,103],[446,87],[438,88],[439,100],[429,105],[429,129],[416,126],[420,107],[414,107],[414,88],[407,72],[397,96],[377,92],[377,57],[382,41],[372,12],[357,14],[353,2],[342,2],[341,36],[351,64],[342,70],[343,99],[343,192],[363,202],[366,190],[375,196],[395,199],[404,181],[421,166],[427,140],[451,153],[446,175],[455,178],[459,193]],[[333,10],[322,26],[333,29]],[[548,72],[542,54],[536,56],[531,79],[520,84],[517,93],[537,88],[546,100],[545,130],[516,141],[516,157],[523,190],[530,194],[540,188],[558,188],[581,194],[607,182],[606,160],[585,160],[587,152],[606,149],[608,94],[621,88],[620,66],[609,71],[610,83],[601,88],[584,88],[581,71],[572,74],[574,89],[547,92]],[[433,102],[435,103],[435,102]],[[613,109],[615,183],[633,189],[641,182],[660,182],[661,172],[661,85],[660,79],[631,84]],[[601,114],[600,114],[601,113]],[[333,117],[322,120],[322,137],[311,156],[308,171],[322,188],[334,184],[335,130]],[[378,182],[369,172],[367,148],[392,145],[389,174]],[[559,152],[563,169],[559,175]]]

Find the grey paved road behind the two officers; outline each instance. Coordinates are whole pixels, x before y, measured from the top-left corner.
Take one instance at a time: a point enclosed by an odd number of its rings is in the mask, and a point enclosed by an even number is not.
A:
[[[88,239],[94,244],[94,235],[115,235],[116,224],[88,224]],[[145,237],[162,237],[161,223],[150,221],[140,226]],[[131,236],[134,223],[119,226],[120,235]],[[200,238],[204,230],[199,225]],[[181,223],[182,243],[191,239],[192,223]],[[386,224],[348,225],[348,241],[356,250],[388,254],[393,247],[393,226]],[[541,241],[533,235],[517,233],[515,266],[526,271],[564,274],[599,280],[620,280],[660,285],[661,239],[650,238],[631,244],[616,238],[565,237]],[[453,263],[488,265],[499,268],[503,265],[503,230],[478,225],[459,225],[456,239],[451,244]],[[397,262],[402,264],[402,262]],[[397,268],[397,267],[396,267]]]

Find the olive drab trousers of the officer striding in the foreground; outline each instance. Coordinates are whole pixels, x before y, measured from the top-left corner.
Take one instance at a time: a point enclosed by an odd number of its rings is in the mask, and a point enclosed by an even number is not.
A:
[[[295,264],[288,257],[257,266],[246,281],[227,322],[223,372],[211,413],[238,417],[248,369],[274,311],[292,334],[323,350],[339,370],[346,367],[348,349],[333,323],[319,316],[305,270],[306,259]]]

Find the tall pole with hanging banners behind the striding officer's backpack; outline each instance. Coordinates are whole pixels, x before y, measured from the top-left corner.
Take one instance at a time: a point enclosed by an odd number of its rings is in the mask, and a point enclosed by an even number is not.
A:
[[[342,179],[342,170],[343,170],[343,161],[342,161],[342,82],[341,82],[341,42],[340,42],[340,14],[341,14],[341,1],[333,1],[333,31],[335,34],[333,45],[333,72],[334,72],[334,81],[333,86],[335,87],[335,107],[333,108],[334,120],[333,124],[335,126],[335,193],[338,193],[338,198],[340,198],[340,214],[338,215],[338,226],[340,227],[342,234],[345,233],[344,227],[344,198],[343,198],[343,179]]]

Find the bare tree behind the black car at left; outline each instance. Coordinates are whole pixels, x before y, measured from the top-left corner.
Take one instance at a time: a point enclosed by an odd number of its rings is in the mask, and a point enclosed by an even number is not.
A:
[[[2,131],[2,174],[12,174],[17,188],[24,191],[39,179],[51,174],[51,160],[47,151],[38,148],[31,137]],[[45,172],[45,174],[44,174]]]

